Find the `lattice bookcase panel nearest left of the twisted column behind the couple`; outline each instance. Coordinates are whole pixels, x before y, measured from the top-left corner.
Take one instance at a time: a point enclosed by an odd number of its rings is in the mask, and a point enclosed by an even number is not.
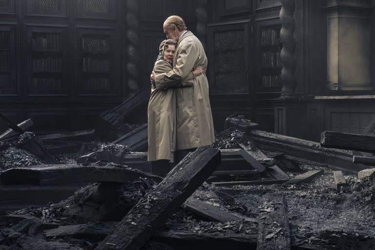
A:
[[[108,35],[83,35],[83,90],[112,90]]]

